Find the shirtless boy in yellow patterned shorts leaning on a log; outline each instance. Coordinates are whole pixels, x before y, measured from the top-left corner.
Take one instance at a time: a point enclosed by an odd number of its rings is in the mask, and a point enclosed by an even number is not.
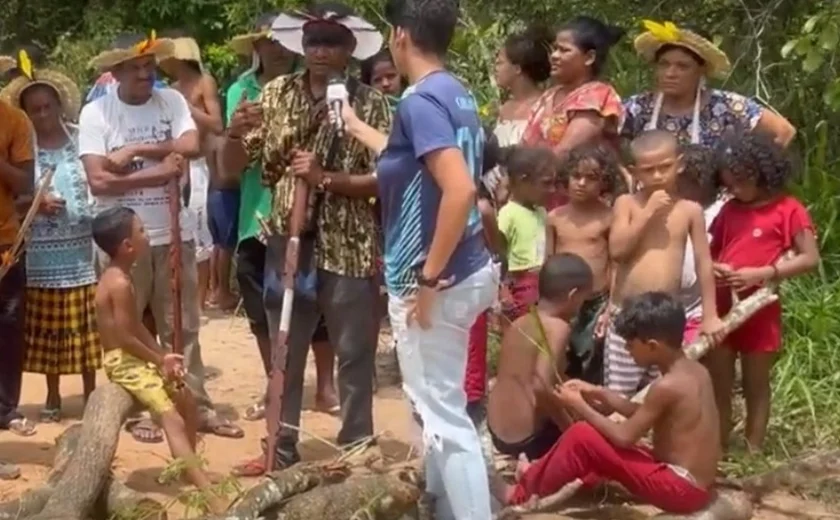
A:
[[[197,409],[183,383],[183,356],[168,353],[157,343],[137,309],[131,268],[149,248],[143,224],[129,208],[107,209],[93,220],[93,240],[111,258],[96,288],[105,374],[161,423],[172,456],[190,462],[185,469],[190,482],[211,490],[210,479],[195,464]],[[213,512],[224,512],[225,501],[212,492],[210,497]]]

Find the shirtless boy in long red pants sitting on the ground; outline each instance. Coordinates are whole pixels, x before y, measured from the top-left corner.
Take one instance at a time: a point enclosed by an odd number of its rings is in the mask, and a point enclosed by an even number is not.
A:
[[[664,292],[637,295],[625,301],[614,326],[636,363],[658,367],[663,377],[641,404],[583,381],[558,385],[556,405],[583,421],[539,461],[521,461],[516,485],[496,486],[503,503],[520,504],[575,481],[594,486],[600,480],[618,482],[669,513],[691,514],[710,502],[721,456],[718,413],[709,373],[683,354],[682,305]],[[595,407],[627,420],[613,422]],[[651,450],[636,445],[649,430]]]

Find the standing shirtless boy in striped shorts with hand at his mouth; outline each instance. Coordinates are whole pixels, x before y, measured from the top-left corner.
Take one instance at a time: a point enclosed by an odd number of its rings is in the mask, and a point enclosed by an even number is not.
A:
[[[681,286],[686,241],[690,238],[702,300],[702,332],[718,339],[722,324],[715,305],[715,279],[703,208],[678,195],[682,157],[677,139],[664,130],[649,130],[633,140],[631,151],[635,161],[632,171],[640,187],[636,193],[619,197],[613,208],[609,250],[616,272],[610,313],[615,315],[621,302],[645,292],[676,296]],[[614,327],[609,327],[604,354],[607,388],[629,396],[646,376],[655,378],[656,369],[636,364],[624,339]]]

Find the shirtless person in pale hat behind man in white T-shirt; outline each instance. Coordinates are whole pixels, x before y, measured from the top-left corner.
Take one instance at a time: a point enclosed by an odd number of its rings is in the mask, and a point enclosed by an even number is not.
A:
[[[174,52],[171,57],[160,62],[160,69],[173,81],[172,88],[184,95],[190,106],[193,120],[198,128],[202,157],[190,161],[190,198],[189,209],[196,219],[196,260],[198,261],[198,304],[204,310],[210,286],[214,244],[218,233],[213,233],[212,215],[208,213],[208,188],[212,182],[216,164],[214,149],[216,136],[224,130],[222,107],[219,102],[218,86],[213,76],[204,70],[198,43],[183,31],[169,31],[164,34],[172,39]],[[232,225],[230,225],[233,228]],[[235,229],[232,229],[236,233]],[[230,231],[228,232],[230,233]],[[235,235],[234,235],[235,236]],[[226,310],[236,306],[236,297],[230,291],[230,253],[236,246],[234,242],[228,253],[226,267],[219,269],[219,262],[214,267],[219,276],[216,289],[223,298],[214,298],[220,307]],[[225,262],[222,262],[225,264]]]

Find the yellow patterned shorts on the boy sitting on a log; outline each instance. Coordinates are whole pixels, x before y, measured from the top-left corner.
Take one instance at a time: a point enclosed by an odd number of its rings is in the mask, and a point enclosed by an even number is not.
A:
[[[108,379],[125,388],[152,414],[160,415],[175,407],[171,396],[176,389],[164,381],[155,365],[115,348],[105,353],[104,366]]]

